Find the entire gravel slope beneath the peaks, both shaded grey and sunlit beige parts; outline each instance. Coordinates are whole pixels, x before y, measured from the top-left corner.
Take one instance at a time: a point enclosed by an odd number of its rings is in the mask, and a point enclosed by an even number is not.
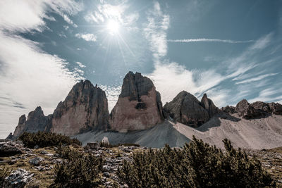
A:
[[[141,146],[161,148],[190,142],[192,135],[212,145],[223,148],[222,140],[228,138],[233,146],[245,149],[271,149],[282,146],[282,115],[245,120],[237,115],[221,113],[197,129],[166,120],[149,130],[121,132],[86,132],[75,137],[83,145],[87,142],[109,138],[111,144],[135,143]]]

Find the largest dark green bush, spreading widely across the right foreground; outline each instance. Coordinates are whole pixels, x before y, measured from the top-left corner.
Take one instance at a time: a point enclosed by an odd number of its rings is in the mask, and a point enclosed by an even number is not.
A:
[[[193,137],[182,150],[168,145],[133,155],[118,176],[129,187],[272,187],[271,176],[257,158],[236,151],[227,139],[226,151]]]

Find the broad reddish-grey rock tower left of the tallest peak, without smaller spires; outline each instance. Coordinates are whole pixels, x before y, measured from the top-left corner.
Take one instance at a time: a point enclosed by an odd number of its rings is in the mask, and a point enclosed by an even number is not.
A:
[[[107,130],[109,110],[105,92],[89,80],[73,86],[53,113],[51,132],[72,136],[87,130]]]

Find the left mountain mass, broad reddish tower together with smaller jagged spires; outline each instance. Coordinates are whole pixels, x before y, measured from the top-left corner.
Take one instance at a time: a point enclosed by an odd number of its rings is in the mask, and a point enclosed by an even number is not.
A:
[[[109,128],[108,101],[105,92],[94,87],[89,80],[73,86],[65,101],[60,102],[53,114],[45,116],[41,107],[20,116],[13,137],[23,132],[56,132],[72,136],[87,130],[107,130]]]

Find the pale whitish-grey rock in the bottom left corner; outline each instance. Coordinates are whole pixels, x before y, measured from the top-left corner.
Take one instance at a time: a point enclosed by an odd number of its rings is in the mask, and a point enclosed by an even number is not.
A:
[[[33,174],[29,171],[18,168],[18,170],[14,170],[8,177],[5,178],[3,187],[25,187],[25,184],[32,180],[32,176]]]

